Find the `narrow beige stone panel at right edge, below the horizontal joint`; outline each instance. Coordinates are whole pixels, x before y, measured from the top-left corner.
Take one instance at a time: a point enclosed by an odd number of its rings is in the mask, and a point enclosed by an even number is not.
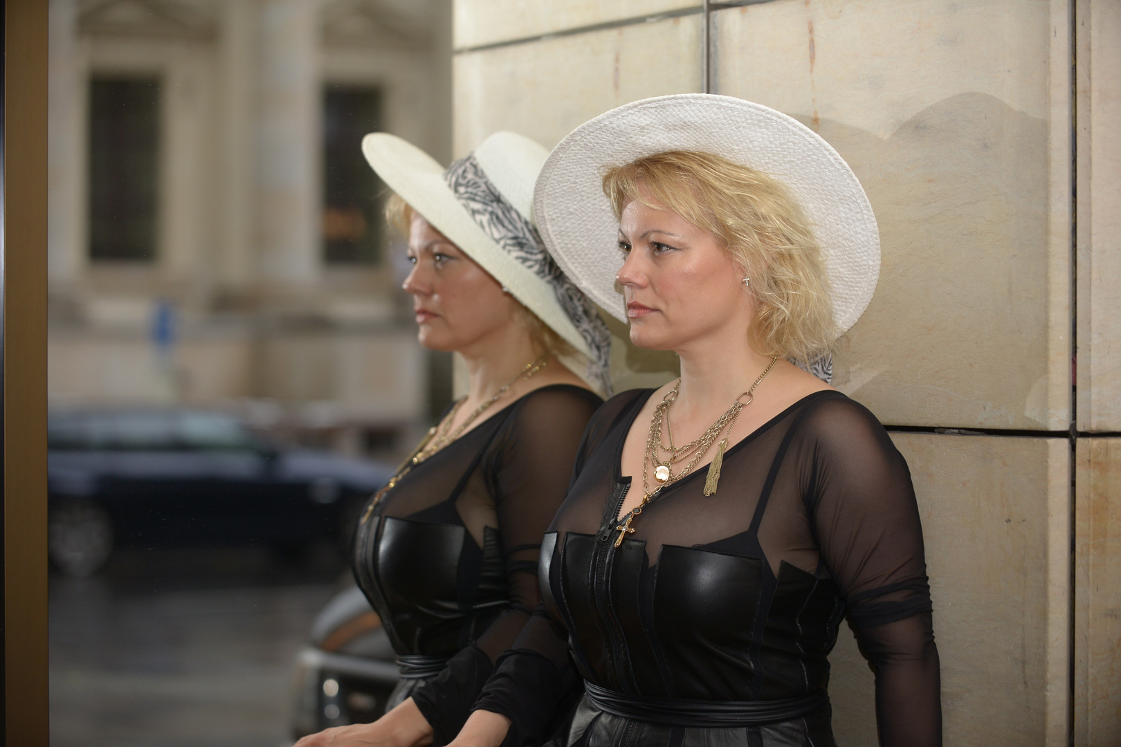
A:
[[[1121,745],[1121,439],[1078,439],[1074,745]]]

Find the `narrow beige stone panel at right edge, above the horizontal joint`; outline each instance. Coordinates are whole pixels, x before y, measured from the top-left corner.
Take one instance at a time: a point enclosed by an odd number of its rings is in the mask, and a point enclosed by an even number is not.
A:
[[[1121,3],[1076,21],[1078,429],[1121,431]]]

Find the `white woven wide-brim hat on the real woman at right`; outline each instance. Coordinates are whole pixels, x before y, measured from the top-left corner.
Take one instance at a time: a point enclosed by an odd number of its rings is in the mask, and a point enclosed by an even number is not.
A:
[[[585,122],[541,168],[537,228],[565,273],[627,321],[614,278],[619,221],[603,169],[668,150],[713,153],[775,177],[798,202],[822,248],[837,335],[868,308],[880,276],[880,234],[864,189],[844,159],[797,120],[742,99],[692,93],[646,99]]]

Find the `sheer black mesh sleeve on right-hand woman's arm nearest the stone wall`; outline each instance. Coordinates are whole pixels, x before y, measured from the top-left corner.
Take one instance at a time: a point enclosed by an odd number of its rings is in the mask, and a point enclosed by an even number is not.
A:
[[[803,495],[822,562],[876,673],[880,744],[941,745],[938,651],[907,463],[852,401],[823,403],[812,420],[814,468],[803,471],[810,479]]]

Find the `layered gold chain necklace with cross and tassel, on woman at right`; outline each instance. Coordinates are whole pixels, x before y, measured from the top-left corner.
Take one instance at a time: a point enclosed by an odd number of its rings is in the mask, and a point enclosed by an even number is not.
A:
[[[771,368],[775,367],[775,363],[778,361],[776,355],[771,358],[770,364],[759,374],[759,379],[754,381],[753,384],[748,389],[748,391],[741,393],[732,402],[732,407],[724,411],[720,418],[716,418],[716,422],[708,426],[701,437],[694,441],[689,441],[683,446],[674,446],[674,435],[669,428],[669,405],[671,405],[676,400],[677,395],[680,393],[682,380],[678,379],[674,387],[666,392],[666,395],[661,398],[661,402],[654,408],[654,415],[650,418],[650,432],[646,438],[646,452],[642,455],[642,502],[639,503],[633,511],[627,514],[627,517],[615,526],[615,531],[619,532],[619,536],[615,539],[615,547],[618,548],[623,542],[623,538],[628,534],[633,534],[634,530],[631,529],[631,521],[634,520],[646,504],[650,502],[658,491],[671,485],[677,480],[682,479],[686,475],[693,471],[693,468],[701,464],[704,459],[704,455],[708,452],[712,445],[720,438],[720,435],[728,430],[729,436],[732,433],[732,428],[735,426],[736,418],[740,417],[740,411],[743,408],[751,404],[753,393],[756,387],[759,386],[767,374],[770,373]],[[747,398],[744,400],[744,398]],[[666,426],[666,433],[669,436],[669,445],[667,446],[661,438],[663,423]],[[705,479],[704,494],[715,495],[716,484],[720,482],[720,469],[724,461],[724,450],[728,448],[728,438],[725,437],[716,446],[716,454],[713,455],[712,464],[708,465],[708,477]],[[660,454],[667,454],[665,459],[661,459]],[[674,465],[682,461],[688,460],[680,471],[674,474]],[[651,491],[650,483],[648,479],[649,467],[654,465],[654,478],[658,482],[657,486]]]

